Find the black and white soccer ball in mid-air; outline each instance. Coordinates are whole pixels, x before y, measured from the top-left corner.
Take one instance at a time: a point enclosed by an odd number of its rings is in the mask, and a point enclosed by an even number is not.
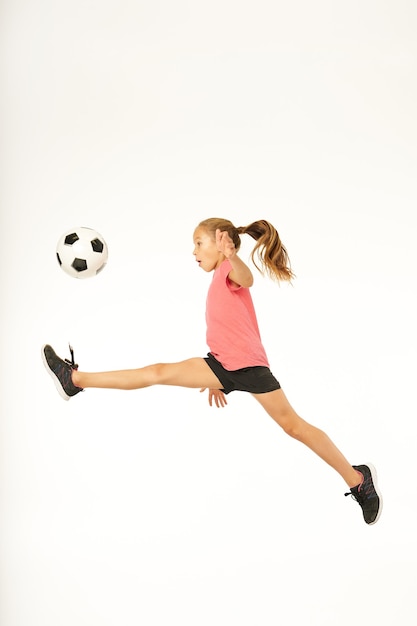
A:
[[[62,235],[56,257],[61,269],[73,278],[91,278],[107,263],[107,244],[97,231],[81,226]]]

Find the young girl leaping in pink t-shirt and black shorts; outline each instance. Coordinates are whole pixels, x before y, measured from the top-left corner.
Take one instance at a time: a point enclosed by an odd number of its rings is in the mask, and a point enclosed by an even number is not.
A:
[[[74,362],[60,359],[51,346],[42,349],[46,368],[64,399],[88,387],[142,389],[150,385],[175,385],[209,390],[210,406],[227,404],[225,394],[246,391],[291,437],[301,441],[333,467],[345,480],[352,497],[362,508],[367,524],[375,524],[382,509],[376,472],[370,464],[350,465],[322,431],[303,420],[291,407],[279,382],[269,369],[261,342],[249,288],[253,275],[240,259],[240,235],[256,240],[252,261],[273,279],[293,278],[287,251],[276,229],[265,220],[236,228],[230,221],[210,218],[194,231],[194,256],[205,272],[213,272],[207,295],[207,345],[205,358],[179,363],[157,363],[139,369],[113,372],[80,372]],[[255,252],[261,267],[256,264]]]

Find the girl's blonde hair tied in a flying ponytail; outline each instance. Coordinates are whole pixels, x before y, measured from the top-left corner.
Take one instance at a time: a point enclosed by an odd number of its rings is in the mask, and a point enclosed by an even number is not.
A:
[[[239,250],[241,240],[240,235],[250,235],[256,241],[256,245],[251,253],[251,259],[256,269],[261,274],[266,273],[270,278],[275,280],[286,280],[291,282],[295,275],[291,270],[291,263],[288,253],[282,244],[278,232],[270,222],[266,220],[257,220],[248,226],[239,226],[236,228],[229,220],[220,217],[210,217],[203,220],[198,225],[199,228],[205,228],[214,238],[216,230],[226,231],[235,244],[236,250]],[[260,261],[260,266],[255,260],[255,254]]]

